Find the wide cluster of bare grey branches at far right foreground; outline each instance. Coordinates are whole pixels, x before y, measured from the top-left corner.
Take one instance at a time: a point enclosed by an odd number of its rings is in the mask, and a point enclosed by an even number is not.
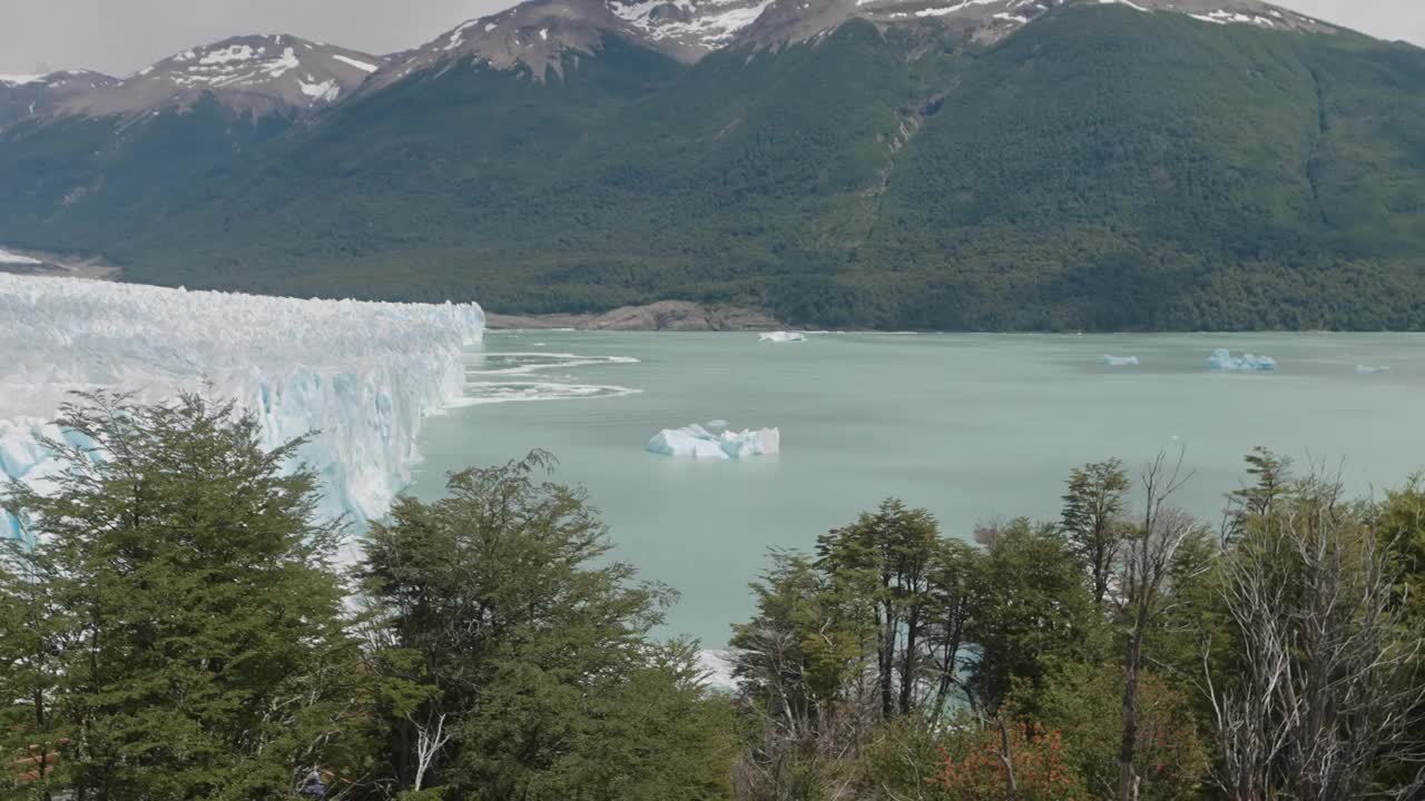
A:
[[[1247,520],[1223,600],[1240,676],[1207,670],[1220,784],[1234,801],[1418,798],[1425,684],[1389,560],[1338,482],[1308,479]],[[1208,660],[1204,654],[1204,663]],[[1415,771],[1377,787],[1382,765]]]

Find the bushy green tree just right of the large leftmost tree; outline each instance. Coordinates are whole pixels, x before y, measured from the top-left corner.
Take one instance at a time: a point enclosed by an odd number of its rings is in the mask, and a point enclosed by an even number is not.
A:
[[[725,797],[727,703],[687,644],[648,639],[674,593],[607,559],[584,492],[542,480],[551,469],[536,452],[463,470],[447,497],[403,497],[372,526],[361,574],[386,668],[429,688],[392,721],[392,781],[492,801]]]

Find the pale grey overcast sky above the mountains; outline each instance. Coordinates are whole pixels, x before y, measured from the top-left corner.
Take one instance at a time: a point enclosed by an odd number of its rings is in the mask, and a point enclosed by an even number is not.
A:
[[[1277,0],[1425,46],[1425,0]],[[127,76],[195,44],[291,33],[368,53],[429,41],[510,0],[0,0],[0,73],[86,67]]]

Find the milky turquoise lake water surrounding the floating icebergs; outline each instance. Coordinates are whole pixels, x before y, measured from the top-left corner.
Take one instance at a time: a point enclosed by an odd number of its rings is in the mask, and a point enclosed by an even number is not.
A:
[[[1216,348],[1273,373],[1207,369]],[[1137,356],[1107,366],[1103,356]],[[1361,373],[1357,365],[1388,365]],[[1186,449],[1183,506],[1214,519],[1265,445],[1379,492],[1425,467],[1422,335],[814,335],[490,332],[469,406],[429,420],[410,492],[533,448],[589,487],[616,556],[683,593],[670,631],[720,647],[770,547],[808,549],[886,496],[942,530],[1053,519],[1069,470]],[[527,400],[532,398],[560,398]],[[522,399],[526,399],[522,402]],[[643,450],[664,428],[778,426],[782,453],[693,462]]]

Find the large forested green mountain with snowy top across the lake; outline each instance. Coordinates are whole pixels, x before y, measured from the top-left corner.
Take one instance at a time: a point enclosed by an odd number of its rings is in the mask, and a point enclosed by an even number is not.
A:
[[[502,312],[1425,328],[1425,51],[1254,0],[534,0],[182,175],[95,147],[0,138],[0,241]]]

